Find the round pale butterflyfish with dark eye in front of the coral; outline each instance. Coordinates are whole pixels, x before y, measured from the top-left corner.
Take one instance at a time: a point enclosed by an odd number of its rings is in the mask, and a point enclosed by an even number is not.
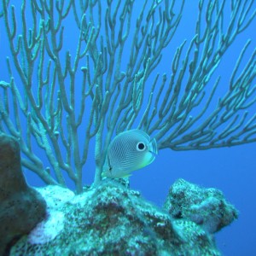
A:
[[[155,139],[141,130],[119,133],[109,144],[102,177],[128,177],[151,164],[158,154]]]

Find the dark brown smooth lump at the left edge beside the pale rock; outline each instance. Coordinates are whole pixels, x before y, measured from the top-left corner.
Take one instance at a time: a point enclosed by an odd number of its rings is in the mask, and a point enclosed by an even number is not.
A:
[[[20,166],[20,146],[14,137],[0,135],[0,255],[28,234],[45,216],[43,197],[26,184]]]

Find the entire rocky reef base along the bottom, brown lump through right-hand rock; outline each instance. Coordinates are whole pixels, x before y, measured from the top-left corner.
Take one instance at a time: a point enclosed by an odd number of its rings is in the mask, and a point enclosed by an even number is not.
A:
[[[0,143],[1,255],[219,255],[213,233],[237,218],[220,191],[183,179],[163,209],[114,179],[80,195],[57,185],[32,189],[18,143]]]

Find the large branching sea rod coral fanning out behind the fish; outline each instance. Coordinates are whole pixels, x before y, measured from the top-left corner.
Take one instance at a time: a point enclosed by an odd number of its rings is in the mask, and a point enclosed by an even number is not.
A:
[[[255,1],[196,2],[195,35],[177,44],[170,73],[160,75],[189,1],[1,1],[8,48],[1,52],[0,133],[18,139],[22,165],[48,184],[73,181],[81,193],[88,154],[94,150],[98,184],[121,131],[143,130],[160,150],[255,142],[249,39],[229,84],[218,77],[231,44],[255,24]],[[216,101],[220,84],[226,92]]]

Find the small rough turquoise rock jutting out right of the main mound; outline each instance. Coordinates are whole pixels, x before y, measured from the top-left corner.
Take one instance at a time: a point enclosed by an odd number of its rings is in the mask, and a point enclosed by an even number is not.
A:
[[[232,223],[236,208],[218,189],[205,189],[178,179],[169,190],[164,209],[175,219],[189,219],[208,233],[215,233]]]

